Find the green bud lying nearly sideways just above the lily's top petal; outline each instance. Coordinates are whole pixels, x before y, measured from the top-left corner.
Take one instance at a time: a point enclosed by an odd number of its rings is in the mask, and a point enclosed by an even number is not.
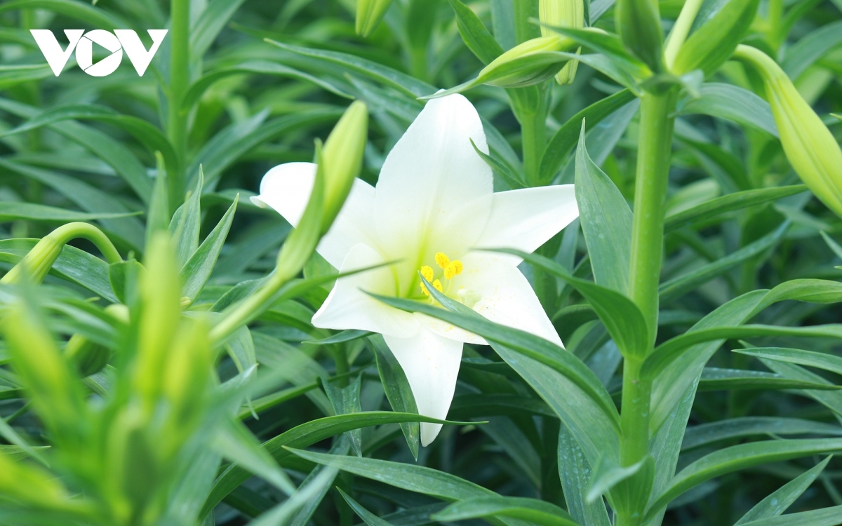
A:
[[[575,41],[560,35],[526,40],[485,66],[477,76],[477,83],[522,88],[544,82],[569,61],[558,52],[569,52],[577,46]]]

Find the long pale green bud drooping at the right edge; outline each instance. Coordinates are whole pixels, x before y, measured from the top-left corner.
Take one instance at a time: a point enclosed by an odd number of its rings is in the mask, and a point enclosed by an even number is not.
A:
[[[763,78],[786,158],[818,199],[842,217],[842,151],[827,126],[770,56],[738,45],[734,58]]]

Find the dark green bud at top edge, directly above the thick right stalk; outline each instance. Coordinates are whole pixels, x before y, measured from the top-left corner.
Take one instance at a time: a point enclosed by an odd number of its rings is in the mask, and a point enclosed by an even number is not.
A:
[[[614,20],[620,40],[653,72],[663,69],[663,29],[658,0],[617,0]]]

